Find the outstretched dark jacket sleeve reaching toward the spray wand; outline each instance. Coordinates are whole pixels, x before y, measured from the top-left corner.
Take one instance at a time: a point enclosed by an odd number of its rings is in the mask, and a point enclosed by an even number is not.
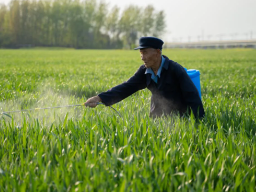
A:
[[[136,73],[128,79],[128,81],[121,83],[106,92],[102,92],[98,96],[106,106],[110,106],[145,88],[146,76],[142,65]]]

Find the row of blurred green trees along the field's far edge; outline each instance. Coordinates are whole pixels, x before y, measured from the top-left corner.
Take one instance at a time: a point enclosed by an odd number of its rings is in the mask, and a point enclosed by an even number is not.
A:
[[[133,48],[140,36],[159,37],[165,14],[152,5],[121,12],[97,0],[13,0],[0,5],[0,47]]]

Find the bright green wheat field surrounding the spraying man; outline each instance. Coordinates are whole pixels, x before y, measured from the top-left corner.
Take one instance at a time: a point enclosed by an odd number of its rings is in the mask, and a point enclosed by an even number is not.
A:
[[[0,115],[0,191],[256,191],[256,50],[163,50],[201,72],[205,118],[113,105]],[[126,81],[139,51],[0,50],[0,112],[80,104]]]

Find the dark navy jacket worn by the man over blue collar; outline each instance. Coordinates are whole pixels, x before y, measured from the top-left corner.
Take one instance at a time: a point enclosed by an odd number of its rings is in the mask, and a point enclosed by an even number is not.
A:
[[[106,106],[110,106],[147,87],[152,93],[151,116],[161,116],[172,112],[183,115],[186,111],[190,112],[191,108],[196,118],[198,113],[200,118],[203,117],[202,101],[187,72],[179,63],[164,55],[163,57],[166,59],[161,71],[161,78],[157,83],[151,79],[151,74],[145,74],[146,67],[142,65],[128,81],[107,92],[100,93],[98,96]]]

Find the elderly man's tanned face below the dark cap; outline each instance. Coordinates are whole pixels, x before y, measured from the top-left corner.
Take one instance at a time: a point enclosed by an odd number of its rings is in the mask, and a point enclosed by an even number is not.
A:
[[[159,50],[153,48],[140,49],[140,57],[146,68],[153,67],[157,63],[159,57],[158,52]]]

